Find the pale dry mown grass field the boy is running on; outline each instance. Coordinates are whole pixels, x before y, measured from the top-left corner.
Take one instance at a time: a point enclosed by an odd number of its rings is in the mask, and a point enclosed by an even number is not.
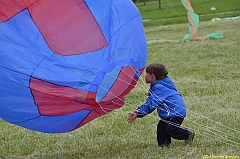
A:
[[[175,40],[182,39],[188,27],[187,22],[158,25],[146,27],[145,32],[147,40]],[[141,78],[121,109],[70,133],[44,134],[0,120],[0,158],[240,158],[240,19],[201,22],[198,35],[218,30],[224,33],[222,39],[148,47],[147,64],[164,63],[185,100],[183,127],[196,132],[191,145],[173,140],[169,149],[159,149],[156,112],[127,123],[128,113],[147,95],[148,85]]]

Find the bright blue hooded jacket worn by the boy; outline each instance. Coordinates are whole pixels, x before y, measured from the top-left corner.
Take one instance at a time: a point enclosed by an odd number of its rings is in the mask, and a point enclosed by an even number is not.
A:
[[[162,119],[185,117],[186,106],[170,77],[151,83],[146,102],[138,107],[138,118],[157,109]]]

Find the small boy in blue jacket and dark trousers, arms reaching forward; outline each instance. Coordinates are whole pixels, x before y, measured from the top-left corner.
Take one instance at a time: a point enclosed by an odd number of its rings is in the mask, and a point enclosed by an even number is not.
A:
[[[176,86],[163,64],[152,63],[146,68],[145,81],[150,83],[146,102],[132,113],[129,113],[128,122],[132,123],[136,118],[142,118],[155,109],[161,118],[157,125],[157,141],[159,147],[169,147],[171,138],[185,140],[185,143],[193,141],[193,131],[180,128],[186,116],[186,107],[182,96],[177,92]]]

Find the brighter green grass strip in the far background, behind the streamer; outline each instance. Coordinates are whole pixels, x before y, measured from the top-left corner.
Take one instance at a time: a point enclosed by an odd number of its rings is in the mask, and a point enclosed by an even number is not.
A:
[[[194,12],[200,16],[200,21],[210,21],[213,18],[226,18],[240,15],[239,0],[191,0]],[[187,23],[186,9],[181,0],[161,0],[161,9],[158,0],[152,0],[143,5],[136,3],[144,20],[144,26],[159,26]],[[216,10],[212,11],[211,7]]]

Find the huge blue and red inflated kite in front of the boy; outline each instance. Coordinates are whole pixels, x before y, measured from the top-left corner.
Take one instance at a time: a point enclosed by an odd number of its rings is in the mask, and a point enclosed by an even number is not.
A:
[[[63,133],[123,106],[147,60],[131,0],[0,4],[0,118]]]

